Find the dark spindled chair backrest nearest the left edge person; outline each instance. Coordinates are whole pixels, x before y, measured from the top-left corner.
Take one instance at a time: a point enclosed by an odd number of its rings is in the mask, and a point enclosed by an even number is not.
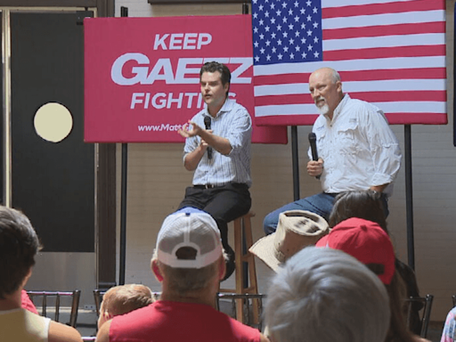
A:
[[[53,307],[54,310],[54,318],[55,322],[60,322],[60,313],[61,307],[61,297],[69,297],[71,302],[69,304],[70,312],[69,312],[69,322],[67,323],[73,328],[76,328],[77,324],[77,310],[79,307],[79,298],[81,297],[81,290],[75,289],[72,292],[64,292],[64,291],[27,291],[28,297],[32,300],[33,304],[38,306],[37,309],[41,306],[41,315],[46,316],[48,311],[48,306]],[[37,304],[37,297],[41,297],[41,305]],[[51,299],[53,305],[48,305],[48,299]],[[66,303],[65,303],[66,304]],[[67,305],[65,305],[67,306]]]

